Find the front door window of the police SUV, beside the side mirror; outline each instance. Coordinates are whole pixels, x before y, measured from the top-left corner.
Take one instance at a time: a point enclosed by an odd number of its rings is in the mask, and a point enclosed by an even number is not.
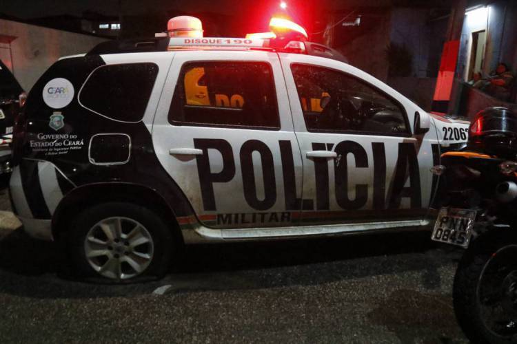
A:
[[[291,65],[308,131],[407,136],[407,116],[396,100],[344,72]]]

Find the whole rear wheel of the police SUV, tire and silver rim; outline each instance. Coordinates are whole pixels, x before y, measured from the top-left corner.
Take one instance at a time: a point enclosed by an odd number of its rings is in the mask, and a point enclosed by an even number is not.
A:
[[[124,283],[163,277],[175,245],[169,228],[153,211],[110,202],[79,214],[69,248],[81,276]]]

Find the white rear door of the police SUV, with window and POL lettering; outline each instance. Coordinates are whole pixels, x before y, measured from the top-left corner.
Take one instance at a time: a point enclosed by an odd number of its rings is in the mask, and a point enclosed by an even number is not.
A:
[[[277,54],[176,52],[152,137],[205,226],[297,221],[301,153]]]

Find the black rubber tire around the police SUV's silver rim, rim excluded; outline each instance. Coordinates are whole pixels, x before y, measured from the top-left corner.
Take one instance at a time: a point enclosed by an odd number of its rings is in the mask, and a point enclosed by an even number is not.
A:
[[[153,255],[147,268],[139,275],[128,279],[111,279],[94,270],[85,253],[85,239],[90,228],[110,217],[124,217],[138,222],[148,231],[153,245]],[[171,257],[179,248],[174,240],[173,228],[168,228],[156,213],[148,208],[132,203],[108,202],[92,206],[79,213],[70,224],[66,235],[68,253],[72,261],[74,275],[87,281],[101,283],[132,283],[160,279],[170,267]]]

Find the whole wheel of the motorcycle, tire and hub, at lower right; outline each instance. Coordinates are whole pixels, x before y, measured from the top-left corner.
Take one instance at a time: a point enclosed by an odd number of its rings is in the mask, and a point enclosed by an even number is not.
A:
[[[472,343],[517,343],[517,237],[481,235],[454,277],[454,312]]]

